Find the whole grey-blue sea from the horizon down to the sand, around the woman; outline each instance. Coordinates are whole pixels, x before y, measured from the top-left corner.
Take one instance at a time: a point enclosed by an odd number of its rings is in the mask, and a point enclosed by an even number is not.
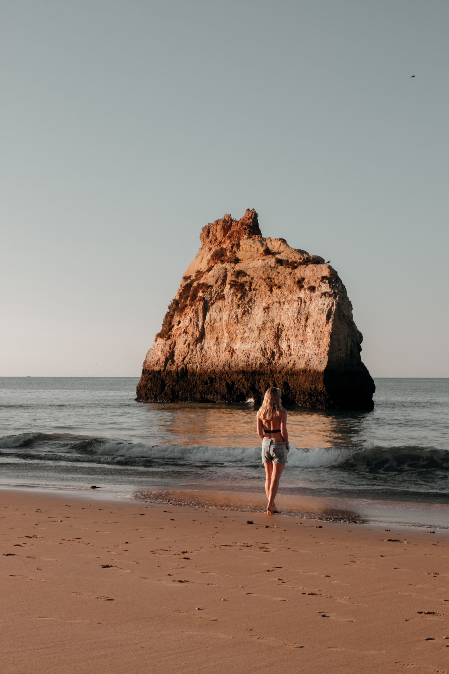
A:
[[[254,402],[141,403],[138,381],[0,377],[0,489],[263,513]],[[287,408],[277,506],[445,530],[449,379],[375,382],[372,411]]]

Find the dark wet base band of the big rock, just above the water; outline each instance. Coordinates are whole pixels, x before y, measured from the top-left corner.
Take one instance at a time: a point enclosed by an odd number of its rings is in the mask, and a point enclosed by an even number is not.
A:
[[[142,371],[137,385],[139,402],[244,402],[260,403],[270,386],[282,390],[287,406],[315,409],[372,410],[376,390],[368,369],[279,371]]]

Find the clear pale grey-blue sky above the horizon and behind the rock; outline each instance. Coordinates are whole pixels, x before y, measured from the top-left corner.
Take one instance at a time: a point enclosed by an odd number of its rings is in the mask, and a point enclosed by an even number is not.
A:
[[[449,3],[0,1],[0,375],[139,375],[201,227],[331,259],[449,376]],[[411,78],[411,75],[416,75]]]

